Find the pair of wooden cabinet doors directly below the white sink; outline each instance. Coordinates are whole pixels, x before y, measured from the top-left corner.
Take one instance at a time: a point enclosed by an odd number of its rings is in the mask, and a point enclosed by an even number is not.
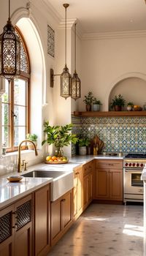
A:
[[[72,190],[51,203],[51,246],[72,225]]]

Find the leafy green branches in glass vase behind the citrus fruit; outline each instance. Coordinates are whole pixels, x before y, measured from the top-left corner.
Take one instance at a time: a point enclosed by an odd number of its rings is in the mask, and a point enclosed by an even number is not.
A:
[[[44,127],[45,127],[44,132],[47,135],[47,138],[46,140],[42,141],[42,146],[45,143],[49,145],[54,144],[55,157],[63,157],[64,151],[62,148],[64,146],[69,146],[71,142],[76,144],[78,141],[77,135],[72,135],[71,133],[73,124],[66,124],[64,127],[63,126],[51,127],[49,125],[49,122],[45,121]]]

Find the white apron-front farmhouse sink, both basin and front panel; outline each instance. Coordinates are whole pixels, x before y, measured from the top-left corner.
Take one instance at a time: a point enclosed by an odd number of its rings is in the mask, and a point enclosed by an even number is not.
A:
[[[73,172],[62,170],[33,170],[25,173],[23,177],[28,178],[53,178],[50,184],[50,200],[53,202],[74,187]]]

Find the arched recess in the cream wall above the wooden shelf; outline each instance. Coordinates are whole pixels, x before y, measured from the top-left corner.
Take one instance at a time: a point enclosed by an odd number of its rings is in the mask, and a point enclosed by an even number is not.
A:
[[[126,103],[133,102],[134,105],[143,106],[146,102],[146,75],[138,72],[122,75],[115,80],[109,91],[108,106],[115,95],[121,94],[126,99]],[[126,110],[126,106],[123,108]]]

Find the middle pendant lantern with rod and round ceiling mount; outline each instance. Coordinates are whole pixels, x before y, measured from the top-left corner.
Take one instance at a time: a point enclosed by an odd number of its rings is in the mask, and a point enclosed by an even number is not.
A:
[[[61,73],[61,97],[67,99],[71,96],[71,82],[72,75],[69,73],[69,69],[66,65],[66,9],[69,7],[69,4],[63,4],[65,8],[65,67]]]

